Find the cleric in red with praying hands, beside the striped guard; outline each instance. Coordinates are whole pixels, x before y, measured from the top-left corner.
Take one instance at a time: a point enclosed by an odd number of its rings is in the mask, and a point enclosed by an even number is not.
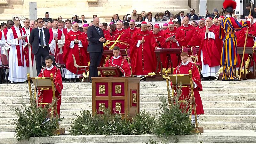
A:
[[[219,28],[212,25],[212,18],[206,19],[206,27],[199,31],[201,41],[198,60],[202,62],[203,80],[214,80],[215,74],[220,69],[221,40]]]

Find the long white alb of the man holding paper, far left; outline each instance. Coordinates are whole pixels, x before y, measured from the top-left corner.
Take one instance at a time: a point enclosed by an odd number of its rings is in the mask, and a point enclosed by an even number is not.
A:
[[[15,25],[13,27],[15,28],[18,37],[24,36],[24,33],[22,30],[21,30],[22,34],[20,34],[20,29]],[[22,49],[23,49],[23,45],[25,44],[25,41],[21,39],[19,40],[19,43],[18,43],[18,39],[17,38],[14,39],[12,29],[10,28],[7,32],[6,43],[11,45],[10,53],[9,53],[10,69],[9,69],[8,80],[11,81],[11,83],[24,82],[27,80],[26,61],[25,59],[22,59],[22,58],[25,58],[25,56],[22,56]],[[18,66],[16,45],[20,45],[20,55],[21,55],[22,63],[24,63],[24,66]]]

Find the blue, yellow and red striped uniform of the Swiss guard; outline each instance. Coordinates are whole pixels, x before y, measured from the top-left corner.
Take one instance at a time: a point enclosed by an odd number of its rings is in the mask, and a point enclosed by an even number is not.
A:
[[[233,17],[226,17],[221,21],[220,39],[223,39],[220,64],[223,66],[223,77],[226,76],[229,67],[229,79],[236,79],[234,74],[234,66],[237,64],[237,41],[235,31],[241,30],[244,27],[250,27],[250,21],[238,22]],[[229,34],[227,34],[229,33]]]

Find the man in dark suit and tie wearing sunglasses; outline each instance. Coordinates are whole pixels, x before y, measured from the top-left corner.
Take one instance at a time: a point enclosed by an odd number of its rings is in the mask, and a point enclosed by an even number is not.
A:
[[[50,33],[47,28],[43,28],[44,20],[42,18],[37,19],[38,27],[34,28],[29,36],[29,43],[32,45],[32,52],[35,55],[36,60],[36,72],[37,75],[41,72],[42,64],[41,57],[45,60],[46,56],[49,56],[49,40]]]

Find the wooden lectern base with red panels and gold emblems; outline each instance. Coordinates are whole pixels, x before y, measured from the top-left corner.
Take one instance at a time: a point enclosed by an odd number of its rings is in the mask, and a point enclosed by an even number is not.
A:
[[[92,77],[92,113],[102,114],[104,108],[129,119],[139,113],[140,78]]]

